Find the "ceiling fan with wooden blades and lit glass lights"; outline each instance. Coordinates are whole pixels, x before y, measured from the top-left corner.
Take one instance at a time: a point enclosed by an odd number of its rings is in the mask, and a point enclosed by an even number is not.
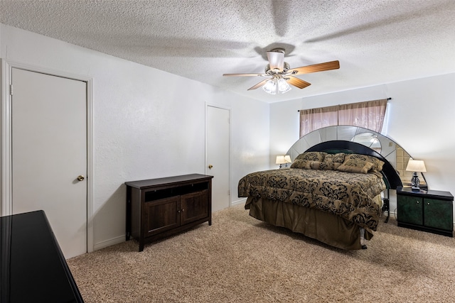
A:
[[[274,48],[267,52],[269,64],[265,67],[265,72],[262,74],[223,74],[223,76],[270,77],[262,80],[253,87],[250,87],[248,90],[262,87],[262,89],[269,94],[277,94],[277,92],[284,94],[291,90],[289,84],[294,85],[294,87],[299,87],[299,89],[304,89],[311,85],[309,82],[294,77],[296,75],[309,74],[310,72],[323,72],[324,70],[336,70],[340,68],[340,62],[338,62],[338,60],[290,68],[289,64],[284,62],[284,53],[283,48]]]

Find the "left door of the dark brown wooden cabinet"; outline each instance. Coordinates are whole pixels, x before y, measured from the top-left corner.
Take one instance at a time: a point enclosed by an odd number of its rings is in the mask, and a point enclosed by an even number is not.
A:
[[[144,204],[144,236],[154,236],[178,227],[180,225],[179,209],[180,196],[146,202]]]

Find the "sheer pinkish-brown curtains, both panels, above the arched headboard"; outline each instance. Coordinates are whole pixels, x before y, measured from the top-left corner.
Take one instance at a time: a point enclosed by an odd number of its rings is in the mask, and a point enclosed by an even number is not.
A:
[[[381,132],[387,99],[300,110],[300,138],[326,126],[351,125]]]

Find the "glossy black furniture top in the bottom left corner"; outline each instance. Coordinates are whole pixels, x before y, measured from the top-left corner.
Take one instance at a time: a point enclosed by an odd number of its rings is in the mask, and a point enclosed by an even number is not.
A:
[[[84,302],[44,211],[0,217],[0,302]]]

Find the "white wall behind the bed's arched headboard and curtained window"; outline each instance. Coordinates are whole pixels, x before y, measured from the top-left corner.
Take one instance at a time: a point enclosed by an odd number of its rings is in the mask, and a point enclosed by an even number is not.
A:
[[[270,163],[299,139],[299,109],[392,98],[386,136],[424,160],[429,189],[455,194],[455,73],[284,101],[270,106]],[[390,209],[394,211],[392,199]]]

